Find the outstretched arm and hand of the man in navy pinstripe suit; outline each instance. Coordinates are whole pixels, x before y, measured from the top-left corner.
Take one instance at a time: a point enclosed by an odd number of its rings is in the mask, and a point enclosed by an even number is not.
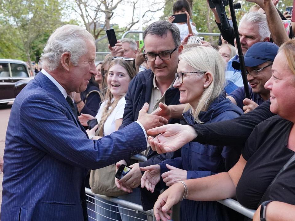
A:
[[[33,94],[21,105],[20,123],[23,133],[32,146],[67,164],[98,169],[130,157],[147,148],[145,132],[140,124],[116,131],[100,140],[93,141],[71,119],[64,106],[45,95]],[[140,123],[146,130],[156,126],[154,115],[146,113],[148,104],[140,111]],[[168,121],[165,118],[163,124]],[[151,125],[151,122],[154,125]],[[152,123],[153,124],[153,123]],[[161,123],[160,123],[161,124]],[[161,124],[161,125],[163,125]],[[150,126],[148,126],[150,125]],[[147,127],[148,126],[148,127]]]

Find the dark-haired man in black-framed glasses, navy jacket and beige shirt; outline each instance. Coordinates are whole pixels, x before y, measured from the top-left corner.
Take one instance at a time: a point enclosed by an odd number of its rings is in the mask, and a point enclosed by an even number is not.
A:
[[[123,123],[120,128],[127,126],[138,118],[138,113],[144,103],[149,103],[148,113],[152,113],[162,102],[166,105],[179,104],[179,90],[173,88],[175,73],[177,72],[178,56],[183,50],[180,42],[179,29],[167,21],[157,21],[148,26],[144,31],[144,58],[151,69],[138,73],[129,83]],[[179,122],[171,119],[169,123]],[[150,150],[147,154],[148,161],[131,165],[132,170],[120,181],[117,186],[131,192],[136,191],[140,185],[142,173],[140,166],[157,164],[167,158],[179,157],[180,152],[158,155]],[[119,162],[126,163],[126,162]],[[122,183],[124,182],[124,183]],[[148,192],[148,191],[147,191]],[[142,195],[142,199],[143,199]],[[155,196],[155,200],[157,196]],[[143,202],[144,209],[152,209],[153,200],[149,196],[148,204]]]

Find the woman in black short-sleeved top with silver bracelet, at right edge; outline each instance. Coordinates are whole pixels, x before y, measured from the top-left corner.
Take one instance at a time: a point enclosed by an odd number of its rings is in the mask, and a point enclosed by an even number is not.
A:
[[[228,173],[186,180],[187,188],[183,183],[176,183],[163,192],[154,207],[157,220],[167,220],[167,211],[187,192],[189,200],[236,197],[242,205],[251,209],[257,209],[266,200],[295,205],[295,162],[267,189],[295,153],[295,39],[281,46],[272,71],[273,76],[265,88],[270,90],[270,111],[278,115],[255,127],[238,163]]]

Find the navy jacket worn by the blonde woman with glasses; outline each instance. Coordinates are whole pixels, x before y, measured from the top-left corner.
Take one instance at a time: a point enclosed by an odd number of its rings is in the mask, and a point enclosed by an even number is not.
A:
[[[222,93],[209,106],[207,111],[199,114],[199,119],[206,123],[233,119],[243,114],[242,110],[225,98]],[[196,124],[190,111],[183,114],[182,124]],[[168,171],[166,163],[187,171],[187,179],[210,176],[228,171],[238,161],[241,149],[237,147],[203,145],[189,142],[181,148],[181,157],[167,159],[159,163],[161,174]],[[161,187],[163,186],[161,178]],[[181,203],[181,220],[232,220],[224,206],[212,202],[183,200]]]

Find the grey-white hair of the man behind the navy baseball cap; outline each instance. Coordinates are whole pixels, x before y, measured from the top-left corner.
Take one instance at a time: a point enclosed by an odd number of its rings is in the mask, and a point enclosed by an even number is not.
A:
[[[267,25],[265,14],[262,14],[256,11],[249,12],[242,17],[239,23],[239,28],[243,22],[258,25],[258,33],[260,35],[260,41],[263,41],[263,39],[265,39],[266,37],[270,37],[270,31]]]

